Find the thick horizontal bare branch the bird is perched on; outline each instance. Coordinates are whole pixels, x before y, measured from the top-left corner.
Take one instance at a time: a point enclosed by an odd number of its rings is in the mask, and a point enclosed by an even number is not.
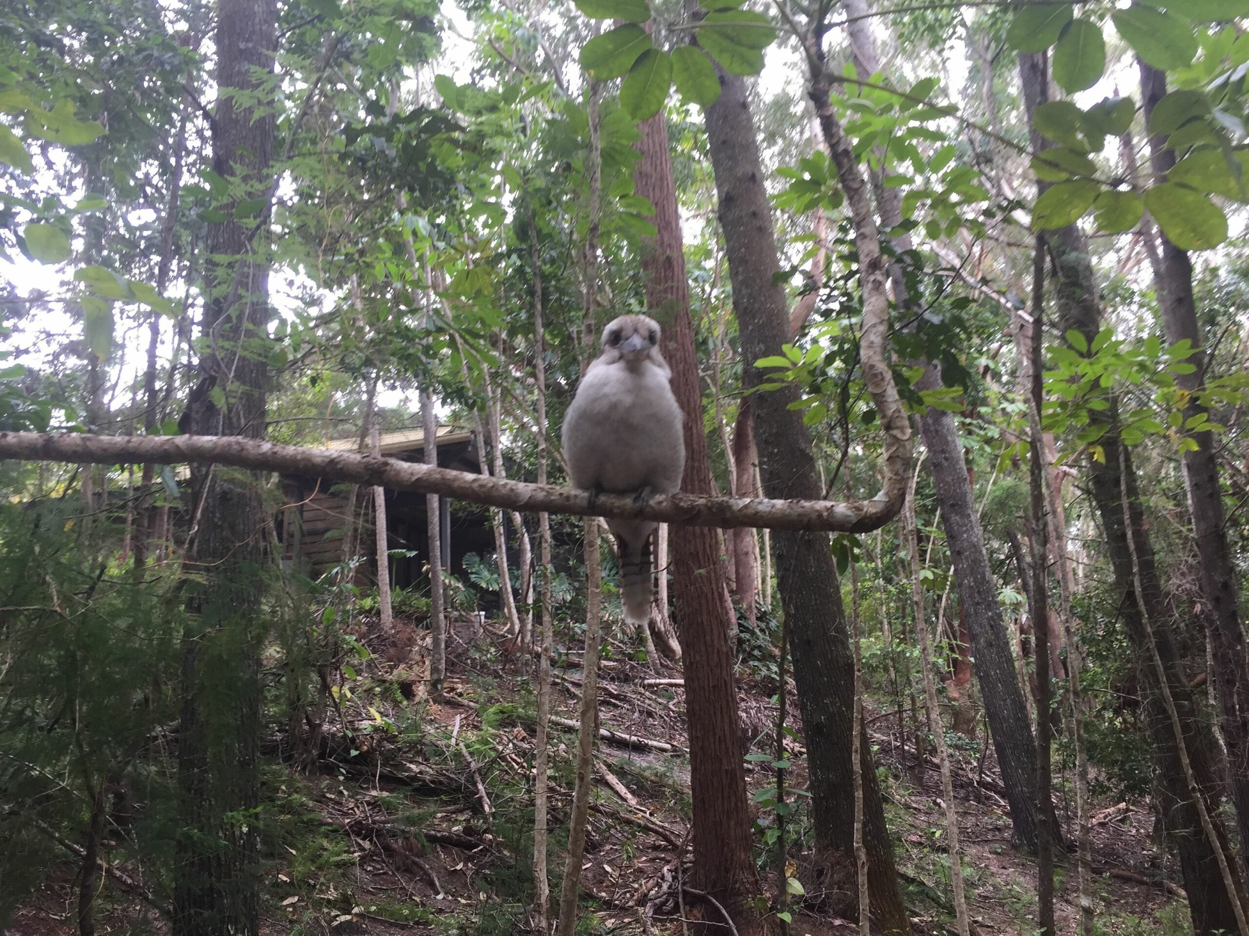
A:
[[[527,484],[435,468],[393,458],[280,446],[240,436],[91,436],[86,433],[0,432],[0,459],[71,464],[214,463],[284,474],[304,474],[443,494],[508,510],[648,519],[691,527],[868,533],[889,515],[879,499],[768,500],[671,494],[639,503],[629,494],[600,494],[548,484]]]

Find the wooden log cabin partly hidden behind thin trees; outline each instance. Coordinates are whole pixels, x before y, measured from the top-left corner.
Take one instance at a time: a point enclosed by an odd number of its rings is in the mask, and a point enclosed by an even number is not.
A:
[[[480,473],[477,441],[472,432],[456,426],[440,426],[437,431],[438,467],[461,472]],[[357,451],[358,441],[331,439],[325,448],[337,452]],[[405,462],[425,461],[425,432],[400,429],[382,433],[383,456]],[[281,475],[286,508],[279,517],[279,538],[285,547],[284,563],[302,567],[305,574],[320,578],[343,560],[343,534],[348,528],[347,510],[351,502],[351,484],[340,484],[301,474]],[[356,494],[355,523],[363,520],[358,530],[357,554],[367,557],[357,570],[357,579],[372,582],[376,578],[376,535],[373,510],[367,490]],[[368,509],[361,509],[368,505]],[[468,553],[491,553],[495,538],[490,517],[485,508],[438,498],[440,544],[442,568],[455,575],[463,575],[463,558]],[[410,588],[423,578],[428,562],[428,527],[426,495],[410,490],[386,492],[386,524],[388,547],[403,554],[390,557],[392,588]]]

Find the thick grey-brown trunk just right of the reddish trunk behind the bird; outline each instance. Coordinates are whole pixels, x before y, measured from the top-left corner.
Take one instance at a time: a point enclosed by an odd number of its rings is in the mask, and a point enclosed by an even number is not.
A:
[[[752,388],[763,379],[752,362],[781,353],[789,323],[784,290],[772,278],[779,270],[776,235],[743,79],[721,75],[721,96],[707,109],[706,120],[746,362],[743,384]],[[763,489],[769,497],[822,498],[811,437],[798,413],[788,409],[794,399],[788,389],[753,398]],[[777,532],[772,547],[807,740],[816,836],[836,874],[836,881],[826,886],[854,892],[854,661],[837,567],[824,534]],[[872,746],[866,740],[862,770],[872,909],[882,934],[909,934]],[[844,916],[856,916],[853,907],[841,910]]]

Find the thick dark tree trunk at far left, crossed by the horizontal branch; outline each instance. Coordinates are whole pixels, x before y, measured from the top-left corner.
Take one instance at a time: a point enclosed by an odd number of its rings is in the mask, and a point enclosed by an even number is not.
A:
[[[216,85],[260,90],[274,70],[276,0],[220,0]],[[252,185],[272,178],[275,117],[266,105],[221,96],[212,122],[212,168]],[[245,99],[244,99],[245,100]],[[262,231],[264,228],[261,228]],[[264,236],[257,231],[259,236]],[[200,382],[187,404],[194,433],[265,436],[264,354],[236,354],[267,339],[269,267],[235,221],[210,223]],[[174,936],[254,936],[260,924],[256,826],[260,805],[260,648],[266,522],[257,475],[192,466],[194,514],[182,640],[177,779],[181,834],[174,865]]]

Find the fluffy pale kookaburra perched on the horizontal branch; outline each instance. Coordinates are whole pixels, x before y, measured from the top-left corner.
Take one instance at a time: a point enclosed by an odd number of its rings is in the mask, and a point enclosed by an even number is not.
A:
[[[659,326],[621,316],[603,329],[602,353],[581,378],[563,419],[563,453],[575,487],[595,493],[673,494],[686,443],[672,371],[659,353]],[[624,620],[651,617],[652,520],[608,520],[616,537]]]

